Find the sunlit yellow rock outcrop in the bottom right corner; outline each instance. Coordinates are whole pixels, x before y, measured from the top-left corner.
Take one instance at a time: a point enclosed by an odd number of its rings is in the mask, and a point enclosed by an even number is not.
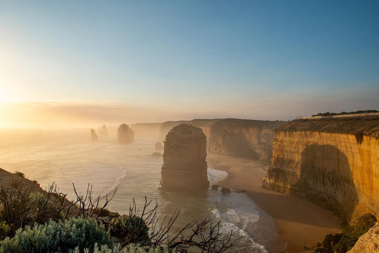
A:
[[[347,253],[379,253],[379,222],[359,237],[354,247]]]

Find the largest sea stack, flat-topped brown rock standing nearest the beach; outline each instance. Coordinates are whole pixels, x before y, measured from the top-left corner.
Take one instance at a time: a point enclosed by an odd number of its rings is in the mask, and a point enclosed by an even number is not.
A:
[[[199,127],[181,124],[164,141],[160,184],[170,192],[190,192],[209,186],[206,136]]]

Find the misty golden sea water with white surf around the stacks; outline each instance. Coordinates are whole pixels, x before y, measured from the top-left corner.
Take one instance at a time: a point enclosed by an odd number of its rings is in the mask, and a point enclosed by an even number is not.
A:
[[[127,214],[133,198],[142,209],[145,197],[158,204],[158,216],[180,212],[176,226],[205,217],[220,222],[227,238],[232,230],[232,250],[240,253],[283,253],[286,241],[256,224],[256,204],[244,193],[208,190],[169,193],[160,190],[162,157],[152,157],[156,140],[136,138],[130,145],[117,144],[115,135],[90,140],[89,130],[0,129],[0,168],[19,170],[42,188],[55,182],[59,191],[75,199],[92,185],[92,195],[112,196],[108,209]],[[158,151],[159,152],[159,151]],[[163,151],[161,151],[163,152]],[[225,171],[208,168],[210,184],[227,177]]]

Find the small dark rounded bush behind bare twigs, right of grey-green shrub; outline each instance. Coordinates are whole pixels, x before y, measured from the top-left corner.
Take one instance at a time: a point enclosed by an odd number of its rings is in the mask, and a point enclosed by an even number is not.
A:
[[[112,220],[111,235],[127,243],[149,240],[149,227],[140,216],[121,215]]]

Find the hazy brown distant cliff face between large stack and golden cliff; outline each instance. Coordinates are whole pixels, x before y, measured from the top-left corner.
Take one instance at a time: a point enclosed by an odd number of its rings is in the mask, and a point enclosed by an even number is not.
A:
[[[288,122],[222,119],[211,127],[208,151],[254,160],[268,160],[272,155],[273,130]]]

